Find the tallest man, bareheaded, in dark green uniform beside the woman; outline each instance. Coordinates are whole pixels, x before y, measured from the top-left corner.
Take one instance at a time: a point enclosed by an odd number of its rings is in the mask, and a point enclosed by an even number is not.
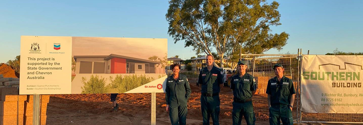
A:
[[[200,70],[198,83],[201,84],[200,104],[203,116],[203,125],[209,125],[212,117],[213,125],[219,125],[219,92],[223,87],[223,76],[219,68],[213,66],[213,56],[207,55],[207,67]]]

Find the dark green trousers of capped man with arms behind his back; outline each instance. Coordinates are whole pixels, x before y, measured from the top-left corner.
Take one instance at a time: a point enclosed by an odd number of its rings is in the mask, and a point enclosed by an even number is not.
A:
[[[256,117],[254,116],[252,101],[246,103],[237,103],[236,101],[233,101],[232,105],[233,125],[241,125],[242,116],[245,117],[247,125],[254,125]]]

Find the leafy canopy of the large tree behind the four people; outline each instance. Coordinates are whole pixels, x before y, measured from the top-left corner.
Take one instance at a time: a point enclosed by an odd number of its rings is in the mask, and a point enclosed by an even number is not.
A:
[[[185,47],[192,46],[196,54],[216,50],[223,59],[239,54],[240,47],[244,53],[260,54],[272,48],[281,50],[289,37],[285,32],[271,33],[270,26],[281,25],[276,1],[171,0],[169,4],[169,35],[175,43],[184,40]]]

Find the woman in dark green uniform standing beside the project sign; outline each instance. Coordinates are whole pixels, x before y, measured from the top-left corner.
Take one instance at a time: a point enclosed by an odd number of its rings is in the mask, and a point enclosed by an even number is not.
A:
[[[173,75],[167,78],[166,83],[166,111],[169,111],[172,125],[187,124],[187,101],[192,92],[188,79],[185,75],[179,74],[180,65],[172,65]]]

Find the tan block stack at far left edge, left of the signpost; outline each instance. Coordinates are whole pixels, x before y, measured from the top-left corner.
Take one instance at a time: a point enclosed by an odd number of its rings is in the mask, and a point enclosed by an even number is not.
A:
[[[23,124],[25,100],[17,87],[0,88],[0,125]]]

